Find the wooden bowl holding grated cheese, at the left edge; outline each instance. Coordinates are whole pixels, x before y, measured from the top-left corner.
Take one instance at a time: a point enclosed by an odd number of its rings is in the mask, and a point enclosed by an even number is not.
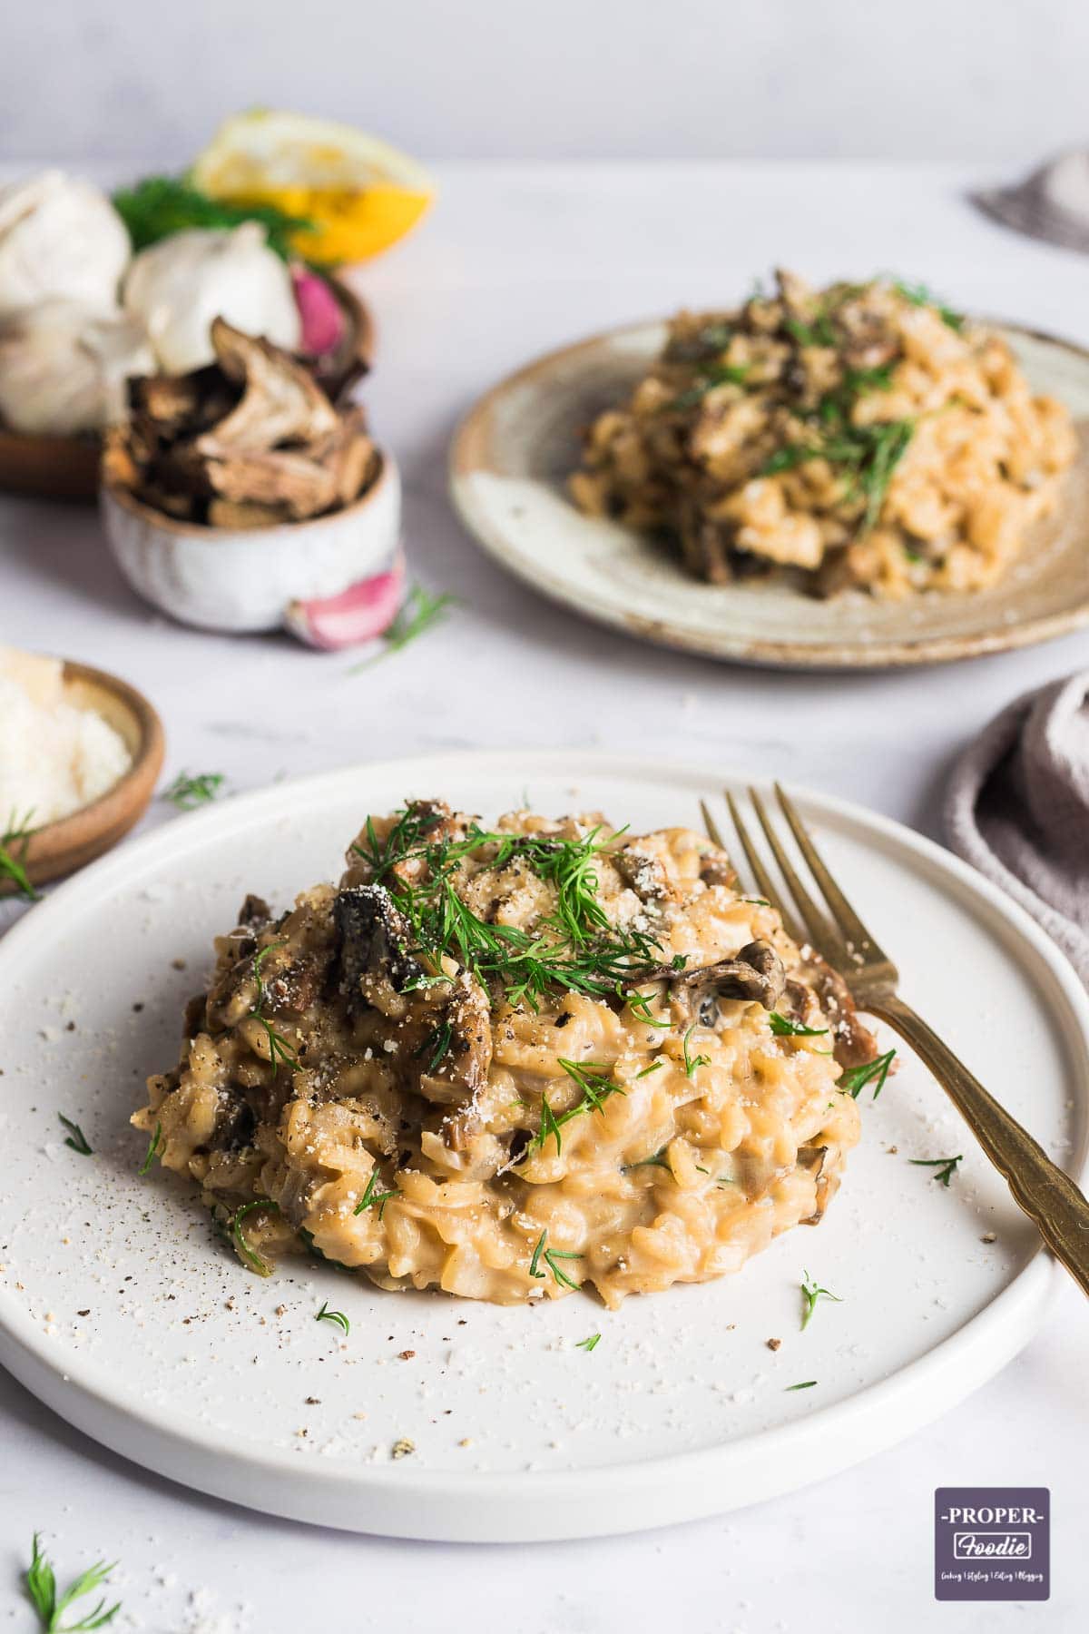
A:
[[[36,886],[83,868],[114,846],[147,810],[163,765],[162,721],[136,686],[88,663],[65,662],[64,693],[69,703],[93,709],[121,734],[132,765],[119,783],[90,806],[34,830],[24,856],[16,851]],[[0,877],[0,895],[13,891],[15,882]]]

